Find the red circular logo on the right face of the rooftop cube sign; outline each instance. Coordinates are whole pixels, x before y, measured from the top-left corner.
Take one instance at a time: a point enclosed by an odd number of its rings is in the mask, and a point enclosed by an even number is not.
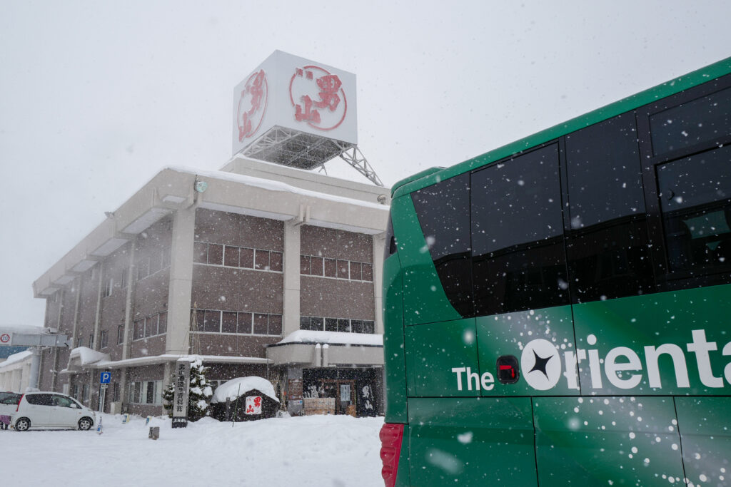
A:
[[[348,112],[342,84],[337,74],[319,66],[295,69],[289,80],[289,101],[295,108],[295,120],[318,130],[338,128]]]

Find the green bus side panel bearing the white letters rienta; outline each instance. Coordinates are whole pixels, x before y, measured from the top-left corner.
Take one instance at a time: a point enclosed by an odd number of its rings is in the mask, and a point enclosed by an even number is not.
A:
[[[574,304],[582,395],[728,395],[729,296],[717,285]]]

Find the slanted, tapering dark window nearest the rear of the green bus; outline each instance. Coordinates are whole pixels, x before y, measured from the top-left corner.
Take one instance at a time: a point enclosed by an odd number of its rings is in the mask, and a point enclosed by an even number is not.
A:
[[[461,315],[472,315],[469,174],[414,191],[412,201],[447,299]]]

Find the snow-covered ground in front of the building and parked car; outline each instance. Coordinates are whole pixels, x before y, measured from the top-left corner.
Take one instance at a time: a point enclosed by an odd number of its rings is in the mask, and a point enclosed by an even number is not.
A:
[[[102,416],[102,434],[0,431],[0,485],[383,486],[383,418],[203,418],[172,429],[164,418]]]

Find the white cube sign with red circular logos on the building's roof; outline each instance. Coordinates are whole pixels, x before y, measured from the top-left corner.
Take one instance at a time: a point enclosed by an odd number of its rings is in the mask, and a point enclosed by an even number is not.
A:
[[[357,144],[355,74],[274,51],[234,89],[233,153],[274,127]]]

